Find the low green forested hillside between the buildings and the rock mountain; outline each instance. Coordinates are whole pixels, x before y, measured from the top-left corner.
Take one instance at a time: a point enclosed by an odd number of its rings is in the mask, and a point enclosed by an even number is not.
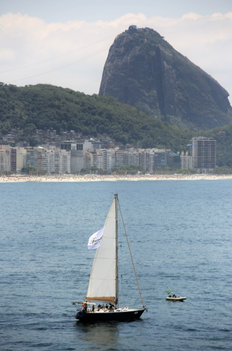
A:
[[[47,84],[0,86],[0,131],[4,135],[11,128],[20,129],[21,140],[30,142],[36,129],[53,128],[57,134],[70,130],[88,136],[107,134],[124,144],[175,152],[187,151],[193,136],[214,137],[218,165],[232,166],[232,125],[193,133],[155,119],[139,107],[120,103],[112,96],[89,96]]]

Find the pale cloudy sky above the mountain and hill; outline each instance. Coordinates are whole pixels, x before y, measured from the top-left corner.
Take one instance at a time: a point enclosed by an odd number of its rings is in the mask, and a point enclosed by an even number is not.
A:
[[[0,81],[98,93],[110,45],[131,24],[156,30],[232,95],[232,0],[0,0]]]

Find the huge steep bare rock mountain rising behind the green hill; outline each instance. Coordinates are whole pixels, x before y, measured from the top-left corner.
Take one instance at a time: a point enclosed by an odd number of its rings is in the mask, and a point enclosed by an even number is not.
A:
[[[232,123],[228,92],[149,28],[116,37],[99,94],[139,105],[156,118],[190,130]]]

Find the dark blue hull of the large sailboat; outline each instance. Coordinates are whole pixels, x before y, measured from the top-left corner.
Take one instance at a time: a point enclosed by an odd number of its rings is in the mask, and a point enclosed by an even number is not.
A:
[[[139,319],[145,309],[124,311],[124,312],[77,312],[75,316],[80,322],[93,323],[93,322],[109,322],[109,321],[132,321]]]

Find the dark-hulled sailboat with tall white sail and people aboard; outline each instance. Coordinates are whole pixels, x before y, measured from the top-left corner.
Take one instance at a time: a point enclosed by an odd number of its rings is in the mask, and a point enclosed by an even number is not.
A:
[[[95,233],[97,235],[93,234],[95,237],[90,242],[90,245],[97,245],[98,248],[93,260],[87,293],[82,302],[72,302],[77,309],[75,318],[80,322],[135,320],[139,319],[145,310],[148,310],[144,305],[140,291],[123,217],[122,222],[142,306],[129,308],[127,306],[119,306],[118,303],[118,207],[122,217],[118,194],[115,194],[104,227]]]

